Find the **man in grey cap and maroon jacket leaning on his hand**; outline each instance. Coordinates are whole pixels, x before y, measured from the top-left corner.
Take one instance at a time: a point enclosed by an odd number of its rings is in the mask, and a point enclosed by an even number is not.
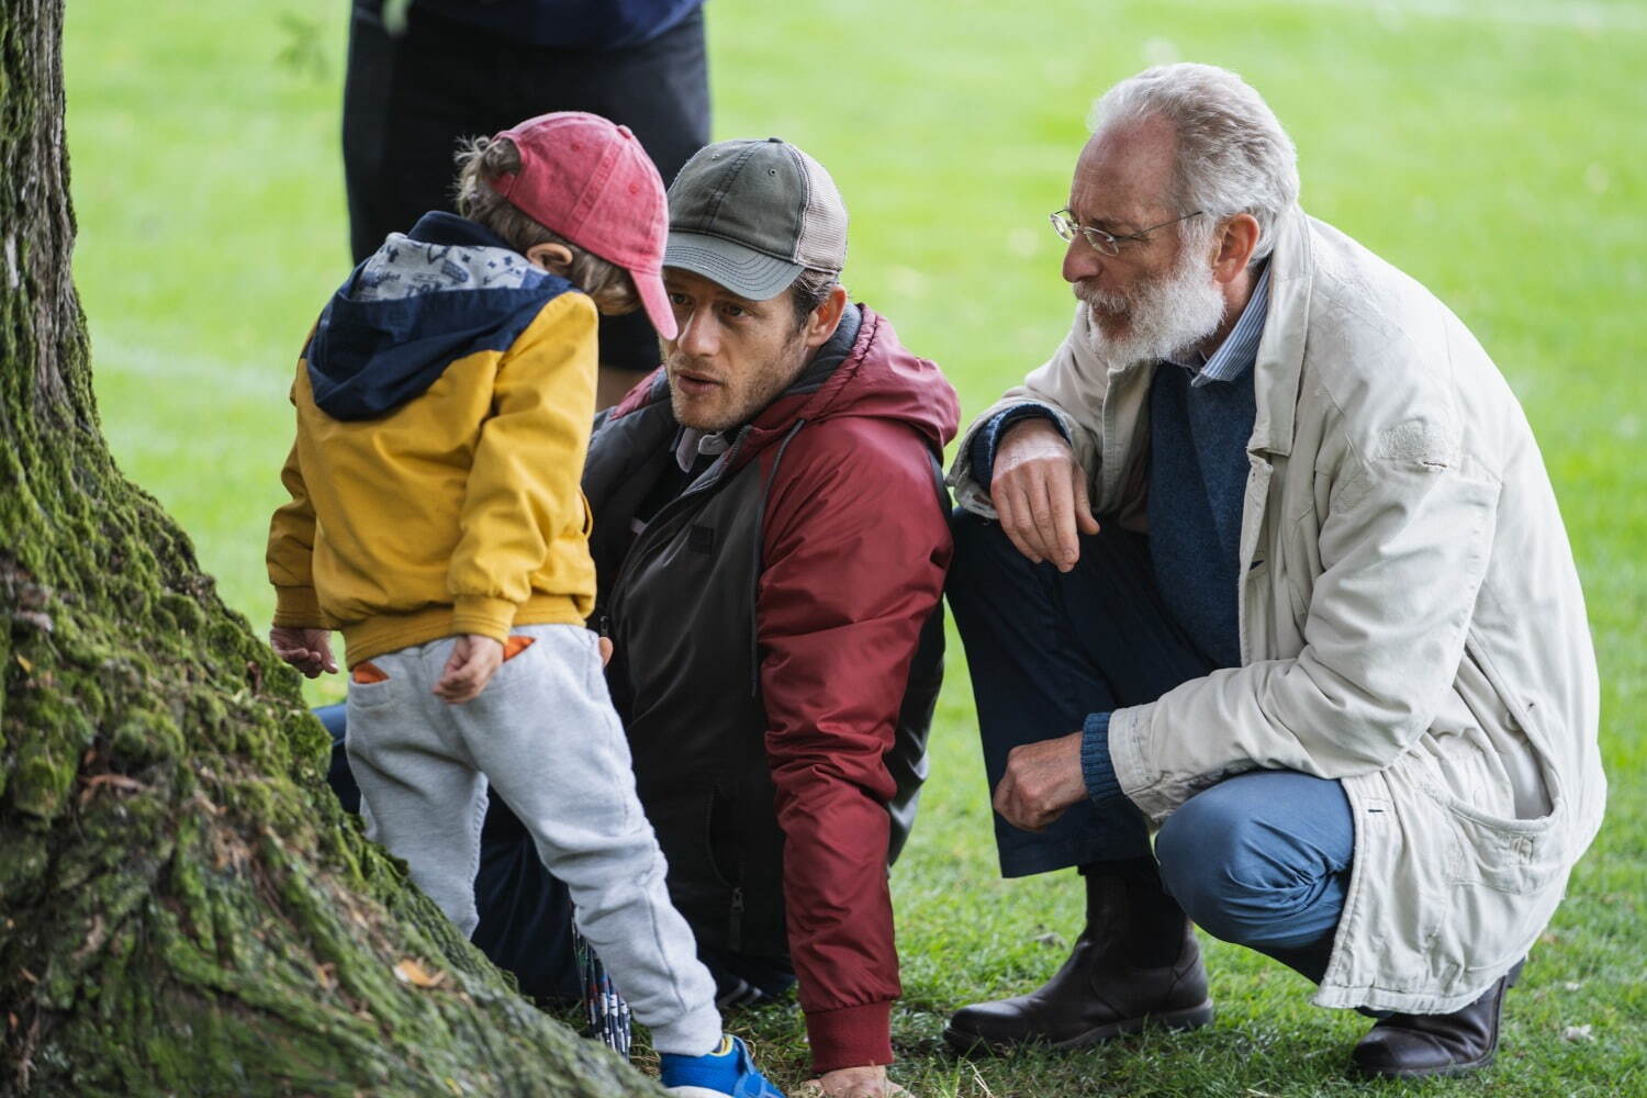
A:
[[[792,970],[819,1088],[896,1093],[888,864],[940,677],[955,392],[848,303],[847,209],[794,145],[710,145],[669,207],[680,331],[583,479],[613,701],[723,998]]]

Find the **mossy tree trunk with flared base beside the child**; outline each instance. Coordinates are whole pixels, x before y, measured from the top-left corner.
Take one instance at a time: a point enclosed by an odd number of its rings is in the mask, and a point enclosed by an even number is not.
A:
[[[296,675],[110,459],[61,23],[0,8],[0,1095],[657,1093],[361,838]]]

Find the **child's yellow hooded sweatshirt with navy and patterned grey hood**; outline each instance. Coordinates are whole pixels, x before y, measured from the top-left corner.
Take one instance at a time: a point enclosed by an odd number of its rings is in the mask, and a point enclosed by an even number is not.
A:
[[[473,222],[420,232],[433,217],[344,283],[292,387],[275,626],[341,629],[351,668],[456,634],[583,624],[595,606],[578,486],[595,303]]]

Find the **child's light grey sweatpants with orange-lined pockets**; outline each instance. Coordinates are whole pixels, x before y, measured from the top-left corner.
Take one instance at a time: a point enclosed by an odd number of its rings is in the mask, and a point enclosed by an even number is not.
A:
[[[474,933],[474,874],[488,782],[567,882],[583,937],[659,1052],[702,1055],[721,1037],[715,983],[669,902],[664,854],[634,792],[629,741],[613,711],[596,637],[524,626],[532,645],[486,690],[433,695],[453,637],[371,660],[389,678],[349,683],[348,752],[366,835]]]

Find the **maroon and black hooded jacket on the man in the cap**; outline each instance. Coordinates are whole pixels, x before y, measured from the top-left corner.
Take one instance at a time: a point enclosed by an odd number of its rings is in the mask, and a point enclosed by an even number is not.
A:
[[[702,942],[792,960],[820,1072],[893,1058],[888,864],[942,677],[959,412],[855,306],[707,468],[680,472],[662,372],[590,443],[608,682],[670,896]]]

